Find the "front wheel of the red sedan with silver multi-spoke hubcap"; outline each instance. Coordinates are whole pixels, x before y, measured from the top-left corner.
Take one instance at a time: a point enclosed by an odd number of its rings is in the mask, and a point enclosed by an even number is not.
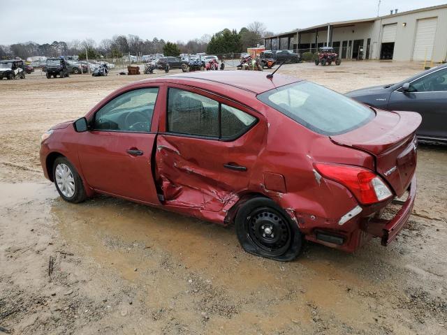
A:
[[[58,157],[53,165],[53,180],[57,192],[67,202],[77,204],[87,199],[78,171],[65,157]]]

